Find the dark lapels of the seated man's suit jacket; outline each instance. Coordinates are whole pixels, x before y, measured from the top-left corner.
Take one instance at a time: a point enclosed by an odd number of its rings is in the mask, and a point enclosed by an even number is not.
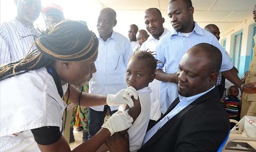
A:
[[[152,136],[152,138],[150,140],[148,140],[143,146],[142,149],[144,147],[147,147],[151,144],[153,144],[154,142],[156,142],[158,139],[160,139],[166,132],[169,131],[169,129],[171,129],[173,127],[173,125],[175,124],[175,122],[179,121],[179,119],[185,114],[187,113],[189,110],[191,110],[192,108],[194,108],[195,106],[197,106],[198,104],[200,104],[201,102],[212,98],[214,96],[217,95],[216,89],[211,90],[210,92],[206,93],[205,95],[201,96],[200,98],[198,98],[197,100],[195,100],[194,102],[190,103],[188,106],[186,106],[181,112],[179,112],[177,115],[175,115],[172,119],[168,120],[163,127],[161,127],[159,129],[159,131],[157,131],[157,133]],[[173,104],[171,104],[167,110],[167,112],[157,121],[159,122],[160,120],[162,120],[170,111],[173,110],[173,108],[179,103],[179,98],[177,98]],[[156,123],[157,123],[156,122]],[[155,123],[155,124],[156,124]]]

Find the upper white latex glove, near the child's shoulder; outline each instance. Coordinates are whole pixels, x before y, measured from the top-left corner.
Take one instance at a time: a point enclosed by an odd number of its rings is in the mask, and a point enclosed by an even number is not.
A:
[[[132,99],[132,96],[134,99],[138,99],[138,95],[136,93],[136,89],[134,89],[132,86],[130,86],[127,89],[123,89],[119,91],[115,95],[109,94],[106,97],[106,104],[108,105],[119,105],[119,104],[127,104],[129,107],[134,106],[134,102]]]

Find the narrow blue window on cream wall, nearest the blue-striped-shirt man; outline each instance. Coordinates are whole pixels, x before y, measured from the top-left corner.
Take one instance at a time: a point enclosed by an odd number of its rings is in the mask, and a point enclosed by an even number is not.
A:
[[[233,42],[233,64],[239,70],[240,66],[240,55],[241,55],[241,44],[242,44],[242,36],[243,32],[237,33],[234,35],[234,42]]]

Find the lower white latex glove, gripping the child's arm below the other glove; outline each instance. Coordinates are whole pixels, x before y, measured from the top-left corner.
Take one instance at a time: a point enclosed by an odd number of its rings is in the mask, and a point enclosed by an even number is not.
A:
[[[133,123],[133,118],[127,113],[113,114],[101,127],[110,131],[111,136],[116,133],[130,128]]]

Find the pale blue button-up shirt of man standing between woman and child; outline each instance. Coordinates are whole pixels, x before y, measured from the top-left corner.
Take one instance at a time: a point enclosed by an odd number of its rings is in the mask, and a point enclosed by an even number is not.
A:
[[[100,36],[98,58],[95,61],[97,72],[89,82],[89,93],[116,94],[126,89],[125,72],[129,58],[133,54],[131,42],[123,35],[114,32],[108,40]],[[103,111],[104,105],[91,106],[95,111]],[[118,105],[110,106],[111,111],[117,110]]]

